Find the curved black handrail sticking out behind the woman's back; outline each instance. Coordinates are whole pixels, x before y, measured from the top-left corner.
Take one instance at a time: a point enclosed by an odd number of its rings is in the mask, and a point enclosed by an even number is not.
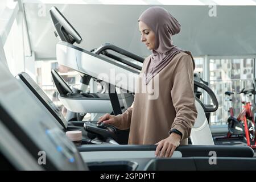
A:
[[[205,112],[214,112],[214,111],[216,111],[218,109],[218,100],[217,100],[214,92],[212,91],[212,89],[210,89],[207,85],[202,84],[201,82],[199,82],[197,80],[194,80],[194,85],[196,85],[199,88],[205,90],[209,94],[211,100],[213,101],[213,106],[209,106],[209,105],[202,104],[201,101],[196,98],[196,100],[199,101],[199,103],[203,107],[204,111]]]

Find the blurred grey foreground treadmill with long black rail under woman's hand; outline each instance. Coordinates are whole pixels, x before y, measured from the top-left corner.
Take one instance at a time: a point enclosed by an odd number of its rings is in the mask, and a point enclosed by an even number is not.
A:
[[[76,147],[55,119],[0,63],[0,168],[18,170],[251,170],[248,146],[179,146],[168,159],[155,158],[155,145]],[[209,164],[216,151],[217,163]],[[44,165],[39,157],[47,154]],[[43,161],[40,161],[43,162]]]

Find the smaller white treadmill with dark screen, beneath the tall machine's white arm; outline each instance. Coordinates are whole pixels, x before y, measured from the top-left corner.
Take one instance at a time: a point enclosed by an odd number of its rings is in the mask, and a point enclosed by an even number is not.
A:
[[[55,69],[51,73],[53,82],[59,92],[59,99],[68,110],[76,113],[113,114],[112,102],[108,93],[86,93],[81,90],[74,92]],[[117,96],[122,110],[133,104],[133,94],[122,93],[117,94]],[[92,120],[94,119],[98,118],[92,118]]]

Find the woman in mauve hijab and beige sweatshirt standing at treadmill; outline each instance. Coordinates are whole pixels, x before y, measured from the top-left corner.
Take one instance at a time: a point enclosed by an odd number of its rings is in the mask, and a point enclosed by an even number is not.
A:
[[[162,7],[150,7],[142,13],[139,31],[152,54],[143,62],[133,105],[120,115],[105,114],[98,123],[130,128],[129,144],[157,144],[155,155],[170,157],[177,146],[188,143],[197,117],[195,63],[190,52],[172,44],[171,36],[180,32],[180,24]],[[156,80],[157,98],[138,92]]]

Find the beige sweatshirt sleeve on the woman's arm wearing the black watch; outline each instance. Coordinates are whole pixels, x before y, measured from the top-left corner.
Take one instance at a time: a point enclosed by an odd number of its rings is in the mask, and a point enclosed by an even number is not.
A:
[[[193,93],[193,60],[185,54],[174,66],[171,78],[171,97],[175,107],[176,117],[172,129],[182,133],[181,140],[188,138],[197,117],[195,95]]]

